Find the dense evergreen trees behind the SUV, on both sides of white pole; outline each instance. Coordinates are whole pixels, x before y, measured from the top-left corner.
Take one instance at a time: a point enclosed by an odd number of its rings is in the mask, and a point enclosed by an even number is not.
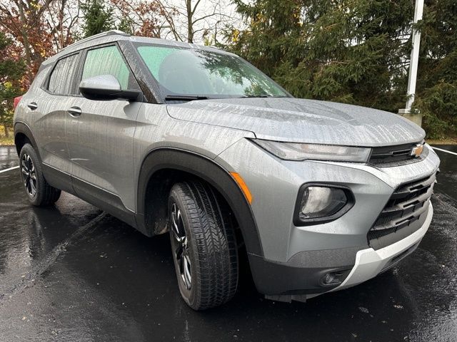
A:
[[[240,54],[299,98],[397,113],[406,102],[410,0],[233,0],[246,30],[227,33]],[[426,0],[413,108],[433,138],[457,133],[457,2]]]

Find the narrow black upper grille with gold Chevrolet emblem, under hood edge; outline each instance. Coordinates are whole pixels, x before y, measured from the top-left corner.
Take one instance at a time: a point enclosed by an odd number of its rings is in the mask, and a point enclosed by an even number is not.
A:
[[[371,151],[368,162],[371,165],[380,167],[398,166],[412,162],[420,162],[428,155],[428,149],[426,145],[424,145],[421,157],[413,157],[411,155],[411,150],[413,150],[413,147],[416,147],[416,145],[417,143],[374,147]]]

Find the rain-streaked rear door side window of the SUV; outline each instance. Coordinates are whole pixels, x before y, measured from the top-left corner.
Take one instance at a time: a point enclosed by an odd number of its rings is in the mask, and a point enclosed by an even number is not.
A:
[[[48,90],[57,95],[71,95],[78,54],[59,59],[49,76]]]

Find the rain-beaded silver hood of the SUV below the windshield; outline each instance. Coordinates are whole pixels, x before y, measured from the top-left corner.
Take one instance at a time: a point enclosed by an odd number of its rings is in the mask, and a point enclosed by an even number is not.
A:
[[[258,139],[377,147],[420,142],[425,132],[383,110],[298,98],[231,98],[167,105],[171,117],[248,130]]]

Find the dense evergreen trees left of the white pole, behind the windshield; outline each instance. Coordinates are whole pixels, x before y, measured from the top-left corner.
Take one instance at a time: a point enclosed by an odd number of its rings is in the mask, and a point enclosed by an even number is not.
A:
[[[229,46],[293,95],[395,111],[405,77],[411,1],[257,0]]]

